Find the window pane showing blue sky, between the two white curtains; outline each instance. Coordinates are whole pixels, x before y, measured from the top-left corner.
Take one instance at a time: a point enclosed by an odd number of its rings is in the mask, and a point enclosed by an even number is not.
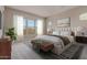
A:
[[[36,23],[34,20],[24,19],[24,34],[35,34]]]

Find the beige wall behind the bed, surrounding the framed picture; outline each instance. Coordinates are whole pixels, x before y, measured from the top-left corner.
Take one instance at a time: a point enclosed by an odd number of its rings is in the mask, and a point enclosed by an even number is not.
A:
[[[87,26],[87,21],[80,21],[79,15],[81,13],[87,12],[87,7],[76,7],[74,9],[70,9],[68,11],[52,15],[47,18],[47,22],[53,22],[53,28],[57,26],[57,20],[62,18],[70,18],[70,26],[77,28],[77,26]]]

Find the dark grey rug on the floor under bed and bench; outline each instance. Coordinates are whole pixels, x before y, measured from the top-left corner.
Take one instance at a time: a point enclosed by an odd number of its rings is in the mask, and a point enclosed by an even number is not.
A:
[[[83,51],[83,45],[73,44],[65,50],[61,55],[56,55],[52,52],[36,52],[43,59],[78,59]]]

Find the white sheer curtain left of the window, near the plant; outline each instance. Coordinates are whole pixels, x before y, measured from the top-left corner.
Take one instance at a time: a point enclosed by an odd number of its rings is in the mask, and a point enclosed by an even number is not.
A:
[[[13,25],[18,37],[23,37],[23,17],[13,15]]]

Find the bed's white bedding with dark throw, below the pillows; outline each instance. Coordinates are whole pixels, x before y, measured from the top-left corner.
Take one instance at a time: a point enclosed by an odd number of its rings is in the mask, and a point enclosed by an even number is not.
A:
[[[37,41],[42,41],[40,44],[44,42],[48,42],[54,45],[52,52],[55,54],[61,54],[67,47],[69,47],[74,40],[73,36],[61,36],[61,35],[40,35],[32,40],[32,43],[36,43]]]

